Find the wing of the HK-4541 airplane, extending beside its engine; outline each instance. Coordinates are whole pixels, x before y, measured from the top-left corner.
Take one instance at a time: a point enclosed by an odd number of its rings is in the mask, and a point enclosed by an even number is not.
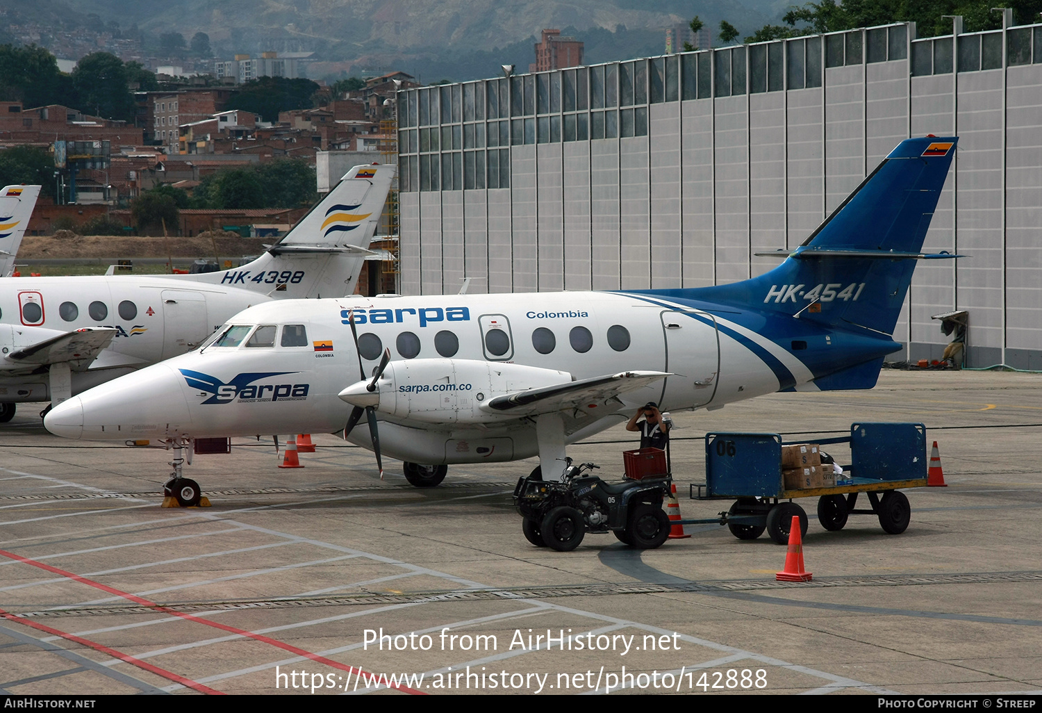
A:
[[[482,403],[480,408],[482,411],[506,413],[518,417],[548,414],[581,408],[591,401],[603,402],[627,391],[660,382],[669,375],[664,371],[623,371],[497,396],[488,403]]]

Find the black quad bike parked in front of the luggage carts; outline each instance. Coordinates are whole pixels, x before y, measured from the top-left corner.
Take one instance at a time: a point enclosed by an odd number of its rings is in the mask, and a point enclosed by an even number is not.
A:
[[[524,518],[521,531],[530,543],[567,552],[588,532],[612,532],[628,545],[653,549],[669,537],[669,517],[662,509],[670,492],[668,475],[605,483],[582,474],[600,466],[573,466],[570,458],[565,464],[560,483],[536,480],[541,475],[534,473],[519,478],[514,488],[514,503]]]

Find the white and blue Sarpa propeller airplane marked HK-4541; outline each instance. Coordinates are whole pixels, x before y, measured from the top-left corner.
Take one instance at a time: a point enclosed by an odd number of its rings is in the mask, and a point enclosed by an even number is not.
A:
[[[957,141],[901,142],[752,279],[268,302],[44,422],[67,438],[158,439],[175,450],[199,437],[343,432],[433,486],[450,464],[537,454],[543,473],[560,472],[568,444],[647,401],[712,411],[776,391],[870,389],[901,348],[891,336],[916,261],[953,256],[920,250]],[[179,461],[168,487],[191,500],[198,486]]]

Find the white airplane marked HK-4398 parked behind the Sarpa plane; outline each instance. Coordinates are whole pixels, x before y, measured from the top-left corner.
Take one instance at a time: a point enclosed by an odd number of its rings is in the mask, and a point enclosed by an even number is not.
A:
[[[362,261],[372,254],[395,171],[354,167],[290,232],[242,267],[0,278],[0,423],[14,418],[19,402],[53,407],[194,349],[251,304],[351,294]]]

